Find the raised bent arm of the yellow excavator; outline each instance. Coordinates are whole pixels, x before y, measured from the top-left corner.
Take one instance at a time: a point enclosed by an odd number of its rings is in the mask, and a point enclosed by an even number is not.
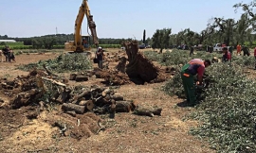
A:
[[[74,44],[76,46],[76,51],[78,51],[78,52],[82,50],[81,26],[82,26],[82,20],[83,20],[84,15],[86,15],[86,18],[87,18],[87,24],[90,28],[93,42],[96,44],[97,47],[99,45],[97,32],[96,32],[96,25],[95,25],[95,22],[93,21],[93,16],[90,13],[90,9],[89,9],[87,1],[88,0],[82,0],[82,6],[79,9],[79,13],[78,13],[76,23],[75,23]]]

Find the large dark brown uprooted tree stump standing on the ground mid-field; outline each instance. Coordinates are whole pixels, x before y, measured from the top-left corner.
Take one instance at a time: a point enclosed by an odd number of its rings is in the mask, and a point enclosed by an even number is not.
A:
[[[126,74],[137,84],[145,82],[164,81],[160,69],[157,68],[149,59],[138,53],[137,42],[124,42],[129,63],[126,65]]]

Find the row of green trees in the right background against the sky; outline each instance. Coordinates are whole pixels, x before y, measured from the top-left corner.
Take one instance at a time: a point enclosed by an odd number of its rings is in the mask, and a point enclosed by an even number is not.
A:
[[[256,2],[252,1],[248,4],[235,4],[235,11],[238,8],[243,8],[244,13],[238,21],[234,19],[225,19],[214,17],[211,18],[207,27],[200,33],[192,31],[190,28],[179,31],[177,34],[171,34],[171,28],[157,29],[152,38],[153,48],[168,48],[171,45],[188,44],[212,45],[216,42],[223,42],[227,45],[236,45],[238,43],[252,46],[256,35],[256,14],[253,13],[253,8],[256,7]],[[160,51],[161,51],[160,50]]]

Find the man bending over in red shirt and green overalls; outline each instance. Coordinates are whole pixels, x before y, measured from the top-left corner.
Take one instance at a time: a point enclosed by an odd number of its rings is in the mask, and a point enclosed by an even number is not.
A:
[[[197,85],[202,85],[205,68],[210,66],[210,60],[192,59],[181,68],[181,79],[186,93],[187,102],[193,106],[196,104],[195,86],[193,76],[197,75]]]

